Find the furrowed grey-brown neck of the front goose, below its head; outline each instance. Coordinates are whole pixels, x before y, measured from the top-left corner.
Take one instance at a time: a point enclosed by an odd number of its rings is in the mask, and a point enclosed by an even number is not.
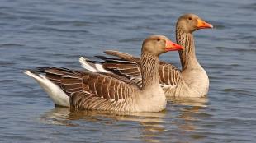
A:
[[[152,85],[159,85],[159,58],[152,53],[141,53],[140,71],[142,75],[142,90]]]

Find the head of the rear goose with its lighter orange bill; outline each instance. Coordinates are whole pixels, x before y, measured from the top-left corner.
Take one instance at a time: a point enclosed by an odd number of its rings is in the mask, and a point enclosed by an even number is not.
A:
[[[213,28],[213,25],[203,21],[199,16],[189,13],[178,18],[176,27],[186,33],[192,33],[195,30]]]

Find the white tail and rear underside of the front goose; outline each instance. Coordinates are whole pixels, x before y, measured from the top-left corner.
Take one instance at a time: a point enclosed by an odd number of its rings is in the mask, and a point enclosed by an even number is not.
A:
[[[34,78],[42,89],[50,96],[55,104],[59,106],[69,107],[69,96],[64,93],[54,82],[48,80],[44,75],[37,76],[31,71],[24,71],[27,76]]]

